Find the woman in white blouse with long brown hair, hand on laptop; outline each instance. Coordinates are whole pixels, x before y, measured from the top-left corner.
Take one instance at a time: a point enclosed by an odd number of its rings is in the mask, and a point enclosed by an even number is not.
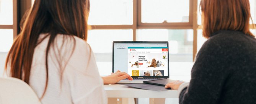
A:
[[[35,0],[8,53],[7,75],[28,83],[43,104],[106,104],[103,84],[132,80],[124,72],[99,76],[86,43],[89,8],[89,0]]]

